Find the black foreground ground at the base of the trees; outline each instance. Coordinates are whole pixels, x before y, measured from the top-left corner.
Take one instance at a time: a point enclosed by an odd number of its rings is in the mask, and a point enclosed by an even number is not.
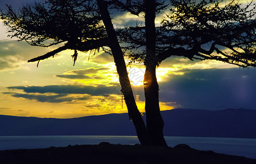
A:
[[[241,156],[199,151],[186,145],[174,148],[142,145],[75,145],[65,148],[0,151],[0,163],[255,163]]]

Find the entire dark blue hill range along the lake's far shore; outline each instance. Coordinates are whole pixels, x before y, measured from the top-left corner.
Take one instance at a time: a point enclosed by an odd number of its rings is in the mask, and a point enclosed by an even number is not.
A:
[[[256,138],[256,110],[162,111],[164,136]],[[145,119],[145,116],[143,117]],[[128,114],[73,119],[0,115],[0,136],[135,136]]]

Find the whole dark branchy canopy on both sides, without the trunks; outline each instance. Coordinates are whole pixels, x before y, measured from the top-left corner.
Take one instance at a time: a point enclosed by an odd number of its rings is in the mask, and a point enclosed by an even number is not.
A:
[[[145,13],[143,1],[107,1],[115,10],[134,15]],[[165,1],[156,2],[156,14],[164,12]],[[16,13],[10,5],[1,14],[9,27],[9,36],[35,46],[65,43],[56,52],[73,49],[88,51],[107,45],[106,31],[95,1],[48,0],[25,5]],[[255,2],[176,1],[169,4],[161,26],[156,27],[156,55],[160,62],[170,56],[191,60],[218,60],[241,67],[255,63]],[[118,39],[131,61],[144,61],[146,55],[145,26],[119,28]],[[50,41],[50,42],[47,42]],[[74,54],[76,56],[76,52]],[[75,58],[76,59],[76,58]]]

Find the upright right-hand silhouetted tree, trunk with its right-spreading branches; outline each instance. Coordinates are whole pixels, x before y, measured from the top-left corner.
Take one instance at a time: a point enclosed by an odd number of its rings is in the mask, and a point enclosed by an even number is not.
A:
[[[154,145],[166,145],[156,67],[171,56],[255,67],[256,7],[253,1],[240,4],[235,1],[171,0],[170,14],[162,20],[161,26],[156,27],[156,14],[166,5],[159,1],[143,2],[140,11],[145,14],[145,25],[121,28],[118,36],[121,43],[126,44],[123,49],[131,61],[144,62],[146,66],[144,91],[147,132]]]

